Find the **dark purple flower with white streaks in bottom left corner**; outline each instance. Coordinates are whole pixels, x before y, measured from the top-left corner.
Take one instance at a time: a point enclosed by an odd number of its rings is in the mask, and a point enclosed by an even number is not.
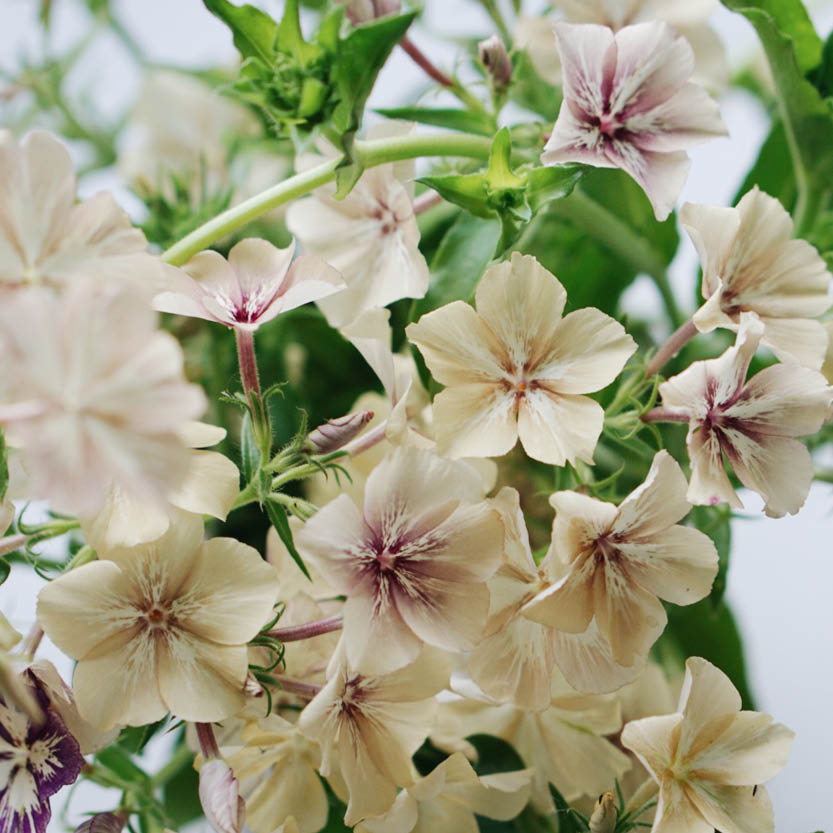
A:
[[[74,783],[84,765],[78,741],[33,689],[43,709],[34,723],[0,697],[0,833],[45,833],[49,798]]]

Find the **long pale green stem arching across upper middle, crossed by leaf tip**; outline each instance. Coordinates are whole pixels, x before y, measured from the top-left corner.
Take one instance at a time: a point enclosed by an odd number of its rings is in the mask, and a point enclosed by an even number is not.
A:
[[[424,136],[395,136],[356,142],[355,152],[365,168],[416,159],[421,156],[463,156],[471,159],[489,158],[491,141],[484,136],[467,133],[438,133]],[[321,185],[335,179],[341,157],[328,159],[315,168],[295,174],[283,182],[267,188],[260,194],[218,214],[171,246],[162,259],[174,266],[181,266],[197,252],[257,219],[279,205],[308,194]]]

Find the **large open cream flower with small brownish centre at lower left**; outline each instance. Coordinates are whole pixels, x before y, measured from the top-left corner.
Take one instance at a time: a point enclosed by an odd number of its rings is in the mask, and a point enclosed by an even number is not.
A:
[[[277,579],[251,547],[202,537],[202,519],[182,513],[158,540],[101,552],[41,589],[38,619],[79,660],[73,689],[95,725],[168,712],[207,723],[244,705],[246,643],[272,615]]]

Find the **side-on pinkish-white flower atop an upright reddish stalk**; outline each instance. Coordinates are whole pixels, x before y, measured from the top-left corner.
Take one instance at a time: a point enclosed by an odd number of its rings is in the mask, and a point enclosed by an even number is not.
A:
[[[171,276],[153,305],[254,332],[282,312],[344,288],[341,275],[321,258],[301,255],[293,261],[294,251],[294,240],[279,249],[250,237],[232,246],[228,260],[219,252],[200,252]]]

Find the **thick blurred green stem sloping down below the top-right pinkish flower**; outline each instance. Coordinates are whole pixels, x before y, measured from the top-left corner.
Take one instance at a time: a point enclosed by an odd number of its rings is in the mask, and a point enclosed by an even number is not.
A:
[[[648,275],[662,297],[671,325],[674,329],[683,325],[685,316],[680,312],[671,291],[665,264],[657,257],[650,243],[637,231],[599,205],[592,197],[578,190],[563,200],[553,202],[550,211],[575,223],[639,272]]]

